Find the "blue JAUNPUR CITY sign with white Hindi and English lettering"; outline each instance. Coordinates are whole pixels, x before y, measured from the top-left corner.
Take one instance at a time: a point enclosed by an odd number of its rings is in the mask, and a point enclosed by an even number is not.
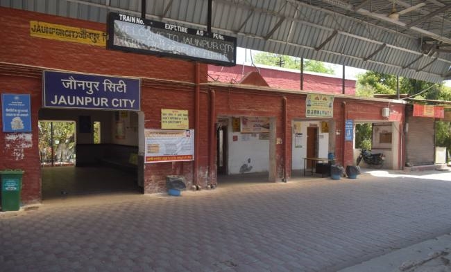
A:
[[[139,111],[141,84],[135,78],[44,71],[45,108]]]

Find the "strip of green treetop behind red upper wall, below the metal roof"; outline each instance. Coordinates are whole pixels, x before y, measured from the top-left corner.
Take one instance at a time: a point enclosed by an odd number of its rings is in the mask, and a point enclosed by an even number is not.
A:
[[[269,66],[280,66],[288,69],[300,69],[299,57],[291,57],[287,55],[279,55],[267,52],[259,52],[253,55],[255,63],[264,64]],[[327,66],[324,62],[318,62],[316,60],[304,60],[304,71],[311,71],[316,73],[328,73],[333,74],[334,69]]]

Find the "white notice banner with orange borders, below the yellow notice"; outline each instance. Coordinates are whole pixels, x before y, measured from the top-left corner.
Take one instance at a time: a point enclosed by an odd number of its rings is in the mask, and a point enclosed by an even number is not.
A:
[[[146,163],[194,160],[194,129],[146,129]]]

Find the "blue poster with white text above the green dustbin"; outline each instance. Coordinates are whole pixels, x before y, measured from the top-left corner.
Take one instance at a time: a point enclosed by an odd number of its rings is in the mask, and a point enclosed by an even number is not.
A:
[[[3,132],[31,132],[29,94],[1,94]]]

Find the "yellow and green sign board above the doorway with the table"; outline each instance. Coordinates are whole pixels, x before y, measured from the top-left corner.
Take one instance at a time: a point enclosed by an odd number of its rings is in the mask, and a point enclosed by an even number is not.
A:
[[[334,117],[334,96],[317,93],[307,94],[305,117]]]

